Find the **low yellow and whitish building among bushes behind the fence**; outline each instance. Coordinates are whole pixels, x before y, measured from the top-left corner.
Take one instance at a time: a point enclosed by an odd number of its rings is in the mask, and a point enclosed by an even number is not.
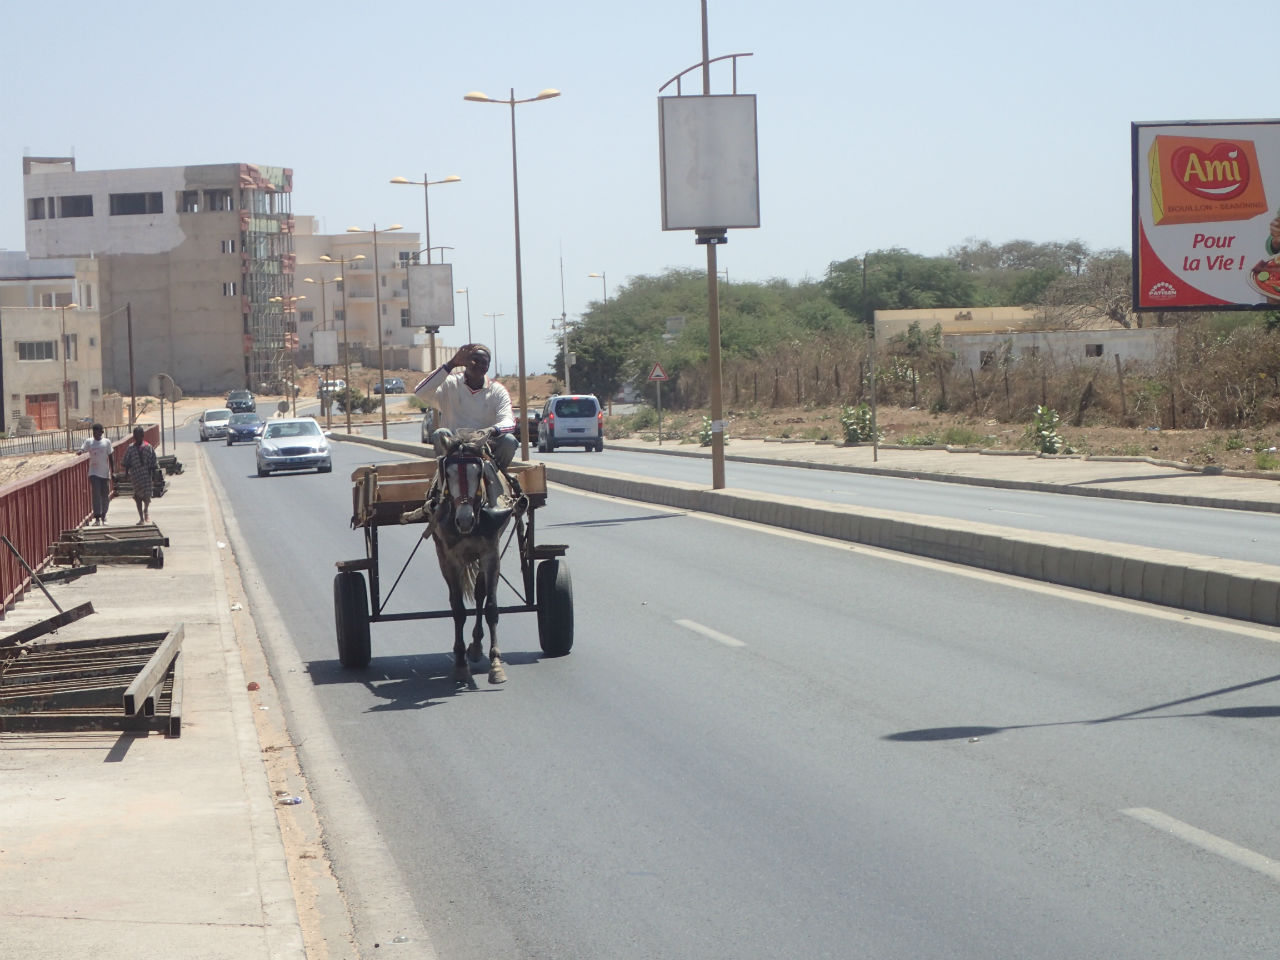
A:
[[[1116,326],[1105,317],[1083,329],[1056,329],[1042,312],[1025,307],[951,307],[877,310],[876,339],[886,343],[905,334],[913,323],[925,333],[942,328],[942,346],[955,355],[956,372],[978,371],[1006,357],[1071,364],[1119,357],[1121,365],[1151,364],[1160,358],[1160,351],[1175,333],[1161,326]]]

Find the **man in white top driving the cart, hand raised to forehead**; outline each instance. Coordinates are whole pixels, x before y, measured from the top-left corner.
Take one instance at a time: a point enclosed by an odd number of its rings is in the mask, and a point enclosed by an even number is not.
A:
[[[436,453],[444,456],[444,442],[454,430],[489,430],[489,451],[498,467],[506,470],[520,442],[511,413],[511,394],[500,383],[489,379],[489,360],[488,347],[468,343],[424,378],[413,393],[440,411],[440,429],[431,434]]]

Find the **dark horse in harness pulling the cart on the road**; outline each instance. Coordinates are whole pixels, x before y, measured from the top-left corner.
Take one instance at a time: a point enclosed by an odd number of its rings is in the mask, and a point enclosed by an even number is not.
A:
[[[442,440],[444,456],[436,461],[436,480],[422,509],[429,516],[429,532],[435,541],[440,573],[449,588],[453,612],[453,681],[475,687],[468,658],[477,662],[484,653],[484,623],[489,625],[489,682],[506,684],[507,672],[498,649],[498,576],[502,559],[502,534],[511,522],[512,508],[490,506],[497,497],[486,495],[497,471],[489,466],[488,434],[460,434]],[[424,534],[425,536],[426,534]],[[467,600],[475,600],[475,627],[471,645],[463,645]],[[481,617],[484,623],[481,622]]]

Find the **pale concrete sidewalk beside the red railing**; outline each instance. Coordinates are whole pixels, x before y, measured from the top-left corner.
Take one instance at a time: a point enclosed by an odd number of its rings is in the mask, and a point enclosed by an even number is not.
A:
[[[58,640],[184,623],[180,737],[0,733],[3,957],[306,956],[276,819],[298,808],[276,806],[255,722],[271,686],[247,690],[209,479],[195,444],[177,453],[184,472],[151,504],[164,567],[99,564],[47,589],[95,609]],[[110,524],[136,520],[113,500]],[[33,586],[0,632],[55,613]]]

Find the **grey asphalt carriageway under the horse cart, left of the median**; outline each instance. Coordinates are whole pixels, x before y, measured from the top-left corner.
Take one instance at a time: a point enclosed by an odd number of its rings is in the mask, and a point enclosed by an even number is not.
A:
[[[571,655],[506,617],[509,682],[456,692],[445,621],[380,623],[347,673],[346,477],[394,457],[335,451],[202,448],[346,764],[308,776],[362,795],[326,829],[376,824],[439,956],[1275,955],[1280,632],[557,488]],[[389,605],[444,605],[430,557]]]

